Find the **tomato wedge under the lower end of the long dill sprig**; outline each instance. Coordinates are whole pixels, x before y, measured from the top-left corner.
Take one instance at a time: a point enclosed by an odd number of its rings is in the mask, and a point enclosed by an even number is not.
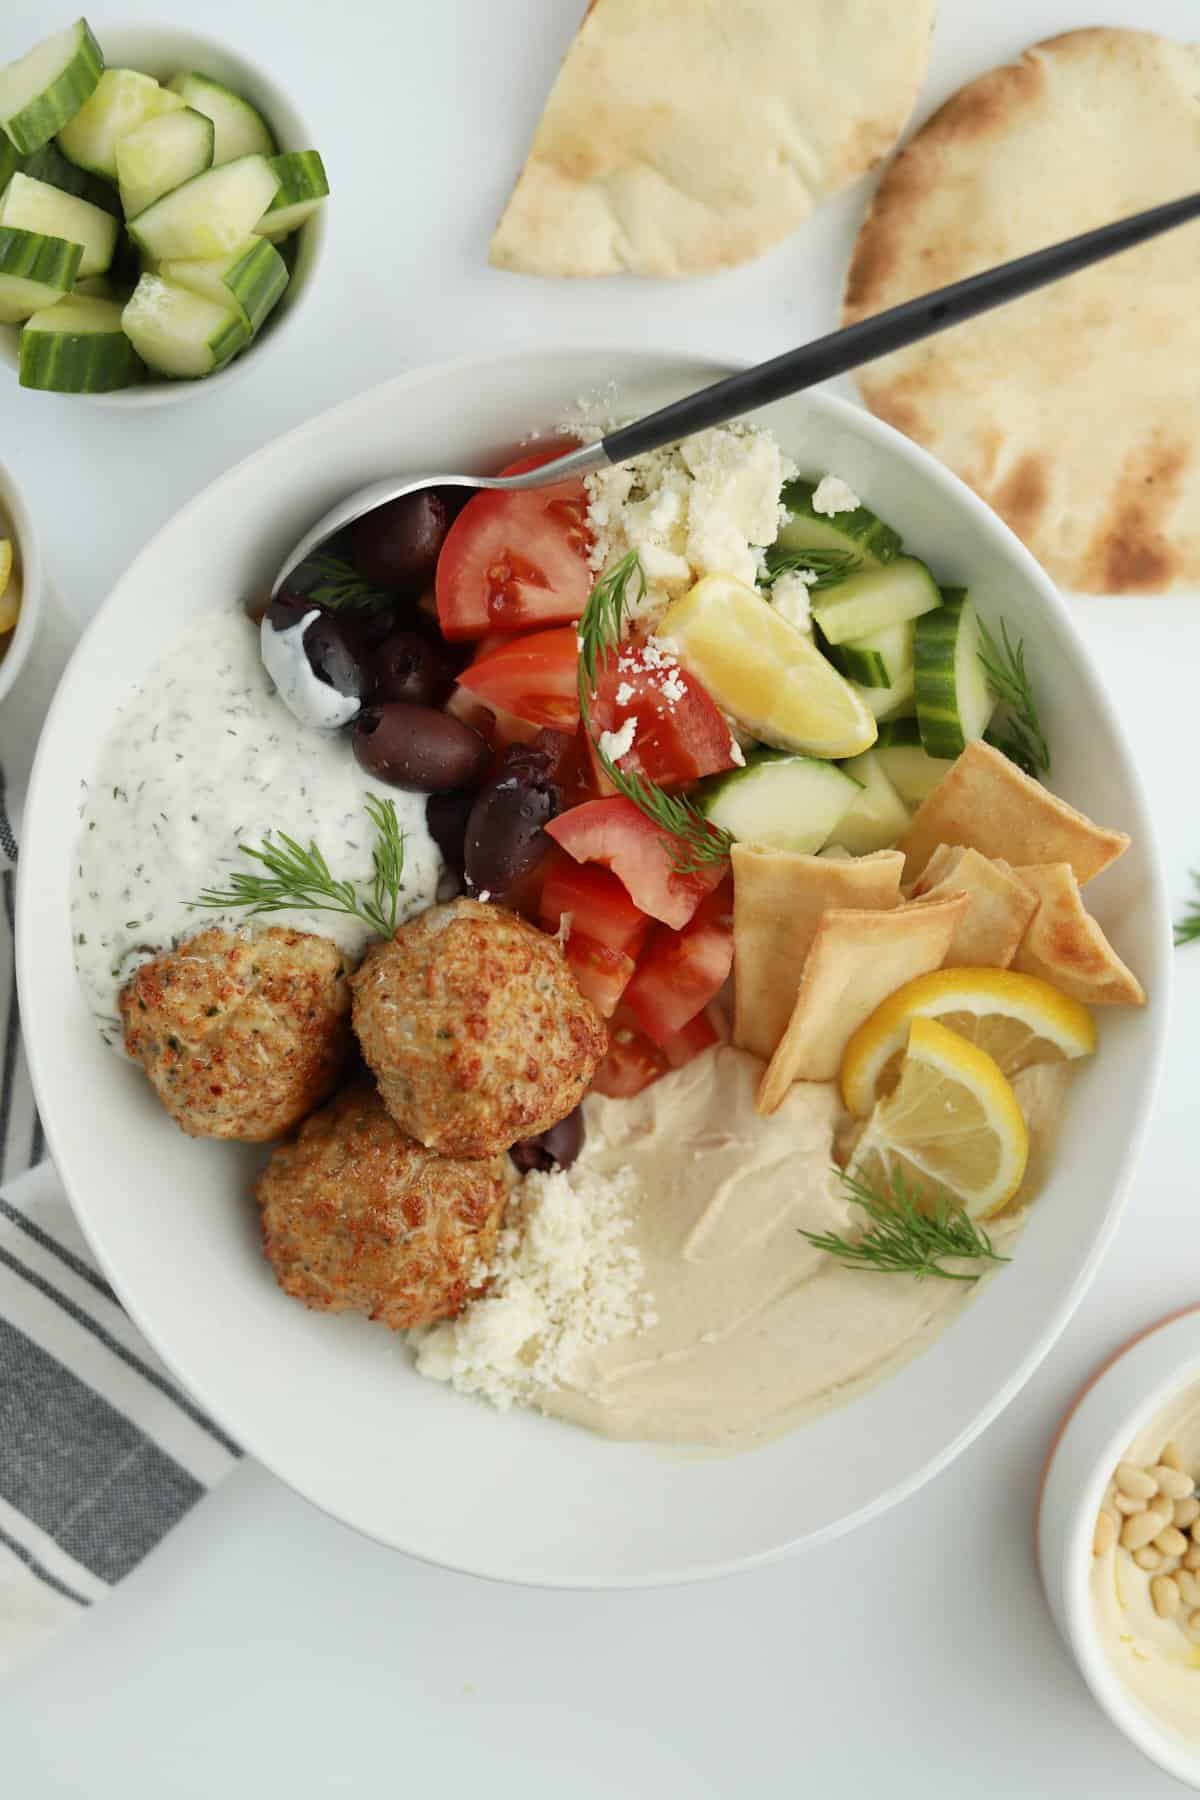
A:
[[[721,860],[682,875],[675,868],[676,839],[621,794],[560,814],[547,832],[576,862],[601,862],[612,869],[633,905],[673,931],[684,929],[703,896],[729,873],[729,862]]]

